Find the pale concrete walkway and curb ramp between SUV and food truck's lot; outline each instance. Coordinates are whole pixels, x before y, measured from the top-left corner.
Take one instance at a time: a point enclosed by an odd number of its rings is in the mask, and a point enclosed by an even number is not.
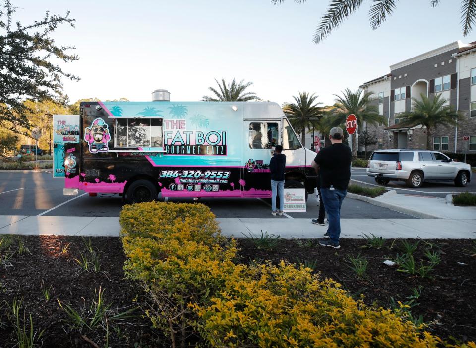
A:
[[[397,194],[390,190],[376,198],[347,194],[348,198],[358,199],[383,208],[423,219],[475,219],[476,207],[458,207],[446,198]]]

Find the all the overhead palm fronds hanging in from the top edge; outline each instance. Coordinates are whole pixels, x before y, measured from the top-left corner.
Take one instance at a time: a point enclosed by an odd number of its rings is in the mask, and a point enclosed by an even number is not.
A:
[[[285,0],[272,0],[271,2],[281,4]],[[295,0],[298,3],[304,0]],[[387,17],[392,15],[398,0],[374,0],[368,11],[370,25],[372,29],[377,29],[385,22]],[[362,0],[331,0],[326,13],[321,17],[321,22],[314,33],[314,43],[319,43],[330,35],[332,30],[337,29],[350,15],[357,12]],[[430,0],[431,6],[439,5],[440,0]],[[467,36],[473,29],[476,19],[476,1],[461,0],[461,24],[463,25],[463,35]]]

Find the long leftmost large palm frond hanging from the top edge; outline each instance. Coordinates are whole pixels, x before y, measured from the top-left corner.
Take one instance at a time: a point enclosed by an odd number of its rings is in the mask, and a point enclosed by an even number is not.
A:
[[[363,0],[332,0],[314,33],[314,43],[318,44],[341,25],[362,4]]]

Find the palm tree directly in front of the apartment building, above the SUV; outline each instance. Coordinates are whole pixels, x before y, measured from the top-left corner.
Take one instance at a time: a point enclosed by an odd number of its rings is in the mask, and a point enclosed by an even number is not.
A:
[[[415,127],[422,125],[426,127],[426,149],[430,150],[431,133],[438,125],[455,126],[458,112],[449,106],[444,106],[448,99],[441,94],[436,94],[429,99],[425,94],[421,94],[421,100],[412,98],[413,111],[406,115],[406,120],[401,122],[402,126]]]

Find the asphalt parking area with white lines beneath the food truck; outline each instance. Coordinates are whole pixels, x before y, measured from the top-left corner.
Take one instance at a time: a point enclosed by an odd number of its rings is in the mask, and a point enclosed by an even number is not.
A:
[[[63,180],[43,172],[0,173],[0,215],[44,215],[44,216],[98,216],[118,217],[122,199],[111,197],[89,197],[80,191],[77,197],[63,196]],[[171,202],[192,202],[192,199],[170,199]],[[200,199],[218,218],[269,218],[271,207],[267,200],[249,199]],[[307,201],[307,212],[290,213],[288,218],[315,218],[319,210],[313,196]],[[342,205],[342,218],[413,218],[386,208],[347,198]]]

